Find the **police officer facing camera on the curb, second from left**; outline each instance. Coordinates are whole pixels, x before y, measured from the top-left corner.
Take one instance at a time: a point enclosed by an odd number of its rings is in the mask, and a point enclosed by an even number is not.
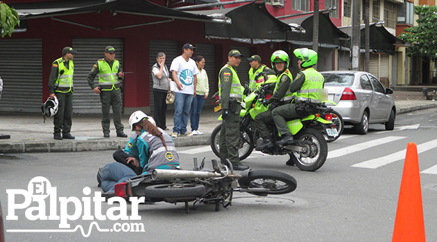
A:
[[[115,57],[115,48],[106,46],[105,58],[99,59],[88,74],[88,84],[94,93],[100,94],[102,103],[102,129],[103,137],[110,137],[110,107],[114,115],[114,126],[117,129],[117,137],[126,138],[121,124],[121,81],[124,73],[120,62]],[[94,78],[98,74],[98,86],[94,85]]]

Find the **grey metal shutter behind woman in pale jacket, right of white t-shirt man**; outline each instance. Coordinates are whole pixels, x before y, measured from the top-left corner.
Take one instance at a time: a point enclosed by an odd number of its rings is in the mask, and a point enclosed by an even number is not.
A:
[[[216,48],[214,44],[196,44],[196,51],[194,55],[202,55],[205,57],[205,71],[208,75],[208,84],[209,84],[209,93],[208,97],[211,97],[218,89],[216,90],[216,83],[218,83],[218,77],[214,75],[216,73]],[[194,57],[194,56],[193,56]],[[212,102],[209,102],[209,98],[205,102],[205,106],[211,106]]]

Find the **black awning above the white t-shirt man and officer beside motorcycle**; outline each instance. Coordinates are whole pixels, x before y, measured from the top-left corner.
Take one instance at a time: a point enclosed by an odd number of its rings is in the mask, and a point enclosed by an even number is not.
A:
[[[234,41],[262,44],[270,41],[285,41],[292,28],[273,17],[265,3],[248,3],[236,8],[218,10],[189,11],[208,16],[224,16],[232,24],[205,23],[205,37],[232,39]]]

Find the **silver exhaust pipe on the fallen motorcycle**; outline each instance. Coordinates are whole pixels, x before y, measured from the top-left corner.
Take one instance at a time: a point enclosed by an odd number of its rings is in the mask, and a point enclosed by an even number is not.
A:
[[[211,178],[222,177],[223,175],[218,172],[212,171],[184,171],[175,169],[155,169],[152,171],[153,180],[168,180],[175,178]]]

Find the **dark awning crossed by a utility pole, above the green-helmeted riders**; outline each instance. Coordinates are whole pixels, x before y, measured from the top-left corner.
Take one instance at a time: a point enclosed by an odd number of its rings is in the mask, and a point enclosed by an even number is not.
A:
[[[282,20],[285,24],[298,24],[305,28],[305,32],[289,33],[287,41],[292,44],[311,46],[313,44],[313,20],[314,15],[295,17]],[[348,39],[349,35],[337,28],[329,19],[329,13],[323,13],[318,18],[318,41],[319,46],[325,48],[340,48],[341,39]]]

